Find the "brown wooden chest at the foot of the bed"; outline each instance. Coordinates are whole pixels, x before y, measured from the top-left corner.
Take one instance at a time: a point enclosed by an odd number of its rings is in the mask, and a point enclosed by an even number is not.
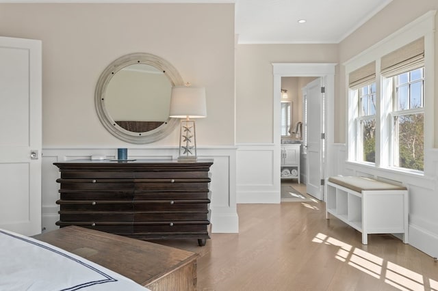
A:
[[[198,254],[78,226],[33,236],[154,291],[196,290]]]

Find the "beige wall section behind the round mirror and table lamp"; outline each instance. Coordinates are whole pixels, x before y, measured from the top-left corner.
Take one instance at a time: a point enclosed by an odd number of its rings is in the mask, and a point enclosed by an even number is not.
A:
[[[94,89],[108,64],[136,52],[158,55],[185,82],[205,86],[198,146],[234,144],[232,3],[0,4],[0,35],[42,40],[43,148],[126,145],[99,121]],[[177,143],[176,129],[155,144]]]

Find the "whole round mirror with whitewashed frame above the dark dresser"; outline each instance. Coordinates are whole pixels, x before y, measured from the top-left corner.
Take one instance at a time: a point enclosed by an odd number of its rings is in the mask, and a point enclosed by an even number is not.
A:
[[[178,71],[149,53],[133,53],[107,66],[96,85],[95,105],[103,126],[129,143],[166,137],[179,123],[169,117],[173,86],[183,85]]]

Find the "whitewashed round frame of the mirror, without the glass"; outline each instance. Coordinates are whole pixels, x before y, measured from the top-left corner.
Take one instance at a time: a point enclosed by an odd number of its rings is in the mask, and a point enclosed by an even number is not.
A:
[[[153,130],[144,133],[135,133],[116,124],[105,107],[105,93],[108,83],[110,83],[116,72],[133,64],[146,64],[161,70],[166,74],[166,77],[168,77],[172,87],[184,85],[183,79],[179,75],[177,69],[165,59],[150,53],[131,53],[119,57],[102,72],[99,81],[97,81],[96,91],[94,92],[94,105],[99,120],[101,120],[103,126],[105,126],[105,128],[118,139],[129,143],[153,143],[154,141],[158,141],[169,135],[179,124],[179,119],[169,117],[166,122]]]

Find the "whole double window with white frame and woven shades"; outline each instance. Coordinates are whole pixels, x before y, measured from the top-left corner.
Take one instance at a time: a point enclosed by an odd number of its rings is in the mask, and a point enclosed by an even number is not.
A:
[[[435,18],[425,14],[344,63],[348,161],[357,171],[434,174]]]

